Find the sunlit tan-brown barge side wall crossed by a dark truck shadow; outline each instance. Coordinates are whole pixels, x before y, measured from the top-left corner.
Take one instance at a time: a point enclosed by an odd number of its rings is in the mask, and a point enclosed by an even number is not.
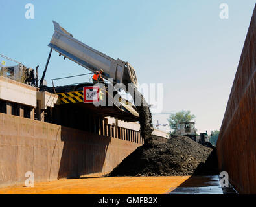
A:
[[[141,144],[0,113],[0,187],[109,173]]]

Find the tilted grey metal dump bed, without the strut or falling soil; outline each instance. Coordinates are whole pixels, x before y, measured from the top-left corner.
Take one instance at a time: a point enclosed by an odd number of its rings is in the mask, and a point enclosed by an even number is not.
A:
[[[103,69],[103,78],[113,78],[113,83],[123,83],[127,90],[129,83],[133,83],[137,87],[137,77],[132,65],[119,58],[115,60],[78,41],[73,38],[71,33],[60,27],[56,21],[53,21],[53,24],[54,34],[49,43],[51,49],[89,69],[89,71],[95,72]]]

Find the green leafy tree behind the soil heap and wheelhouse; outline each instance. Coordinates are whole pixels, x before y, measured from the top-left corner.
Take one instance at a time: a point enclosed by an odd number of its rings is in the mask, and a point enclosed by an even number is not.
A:
[[[171,114],[169,116],[169,119],[167,120],[169,122],[170,129],[176,130],[178,122],[191,122],[191,120],[193,120],[194,118],[196,118],[196,116],[194,116],[194,114],[191,114],[191,111],[183,110],[175,114]]]

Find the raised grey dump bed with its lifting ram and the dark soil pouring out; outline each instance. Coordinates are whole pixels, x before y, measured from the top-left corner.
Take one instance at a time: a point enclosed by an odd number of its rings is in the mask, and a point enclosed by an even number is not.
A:
[[[119,83],[119,88],[114,87],[117,91],[121,88],[124,89],[126,93],[130,93],[129,88],[132,87],[132,98],[134,101],[139,100],[139,104],[136,105],[136,109],[139,113],[141,136],[144,138],[145,142],[147,142],[147,138],[150,140],[151,133],[153,131],[152,116],[145,98],[143,98],[141,93],[137,90],[137,77],[132,65],[119,58],[115,60],[114,58],[89,47],[78,39],[75,39],[73,35],[61,27],[59,23],[56,21],[52,22],[54,25],[54,34],[52,35],[51,42],[48,45],[51,50],[45,65],[45,70],[43,71],[43,76],[40,80],[40,87],[42,87],[52,50],[58,52],[59,56],[64,56],[64,59],[68,58],[91,72],[103,69],[103,78],[111,78],[113,86],[115,83]],[[125,87],[123,87],[123,85]]]

